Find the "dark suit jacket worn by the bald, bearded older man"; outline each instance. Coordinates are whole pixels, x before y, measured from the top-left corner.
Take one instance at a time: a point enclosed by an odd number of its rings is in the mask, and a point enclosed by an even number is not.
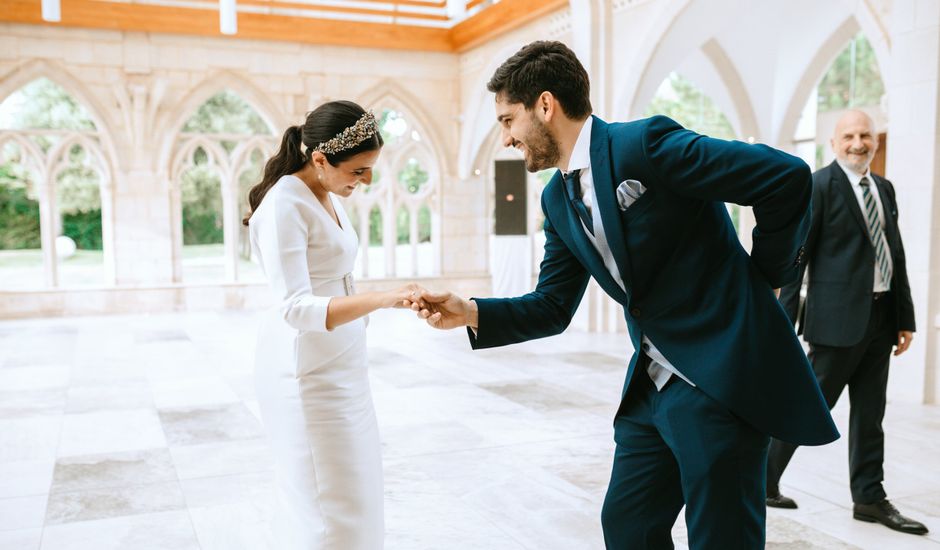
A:
[[[898,204],[894,186],[872,174],[885,213],[884,231],[894,270],[891,290],[895,332],[914,331],[914,303],[907,279],[904,244],[898,231]],[[807,342],[849,347],[865,336],[874,286],[875,251],[855,192],[835,161],[813,174],[813,213],[806,239],[809,271],[806,300],[800,307],[800,277],[787,285],[780,300],[787,315],[799,321]]]

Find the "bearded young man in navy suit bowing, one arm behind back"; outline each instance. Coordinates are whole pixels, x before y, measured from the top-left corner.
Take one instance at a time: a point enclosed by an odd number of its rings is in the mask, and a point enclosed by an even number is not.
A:
[[[529,171],[559,170],[542,193],[538,285],[517,298],[424,292],[412,307],[437,328],[469,327],[474,349],[504,346],[564,331],[594,277],[636,350],[614,418],[607,548],[673,548],[683,505],[690,548],[763,548],[769,436],[838,437],[775,296],[803,259],[809,168],[662,116],[591,116],[587,72],[558,42],[525,46],[488,88],[503,143]],[[725,202],[754,207],[750,254]]]

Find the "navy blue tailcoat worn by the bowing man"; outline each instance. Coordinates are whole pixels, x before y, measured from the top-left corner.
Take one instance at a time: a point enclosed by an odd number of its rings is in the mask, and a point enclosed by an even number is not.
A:
[[[810,221],[809,167],[776,149],[709,138],[657,116],[615,124],[595,118],[591,172],[626,290],[585,235],[557,173],[542,193],[538,285],[517,298],[476,299],[474,349],[564,331],[593,276],[623,305],[634,349],[648,335],[699,389],[763,433],[800,445],[837,439],[772,290],[798,274]],[[626,179],[647,190],[622,211],[615,191]],[[725,202],[754,207],[750,254]],[[637,359],[634,353],[622,396]]]

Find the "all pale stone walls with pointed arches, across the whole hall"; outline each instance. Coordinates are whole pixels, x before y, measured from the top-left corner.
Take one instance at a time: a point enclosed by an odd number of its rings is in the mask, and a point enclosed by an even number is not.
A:
[[[451,283],[468,281],[479,293],[486,291],[479,283],[488,271],[490,166],[499,149],[485,84],[519,47],[544,38],[571,44],[591,73],[595,109],[609,120],[641,114],[659,83],[679,70],[734,111],[729,120],[739,137],[790,150],[807,99],[861,30],[888,84],[887,175],[898,190],[920,329],[893,370],[891,396],[935,401],[940,391],[938,4],[572,0],[572,9],[460,55],[0,25],[0,98],[47,76],[92,112],[115,175],[114,257],[121,292],[174,288],[174,222],[165,170],[180,125],[210,95],[231,88],[278,129],[298,122],[324,99],[351,98],[366,106],[390,100],[426,129],[438,155],[440,272]],[[121,300],[134,295],[126,292]],[[42,312],[42,301],[30,296],[0,293],[0,315],[22,314],[28,304]],[[598,321],[608,318],[610,308],[594,296],[588,326],[617,328],[615,322]],[[80,299],[68,300],[81,310]],[[219,300],[220,305],[238,302]]]

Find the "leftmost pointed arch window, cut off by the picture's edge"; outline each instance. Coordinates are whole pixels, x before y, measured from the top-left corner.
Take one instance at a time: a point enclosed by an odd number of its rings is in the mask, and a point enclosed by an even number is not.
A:
[[[0,103],[0,288],[114,283],[111,170],[88,111],[49,78]]]

